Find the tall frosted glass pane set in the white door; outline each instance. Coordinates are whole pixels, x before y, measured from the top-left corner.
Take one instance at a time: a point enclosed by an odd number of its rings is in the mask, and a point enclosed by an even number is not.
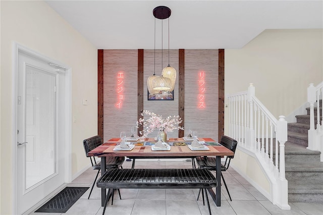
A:
[[[56,76],[26,66],[26,190],[56,173]]]

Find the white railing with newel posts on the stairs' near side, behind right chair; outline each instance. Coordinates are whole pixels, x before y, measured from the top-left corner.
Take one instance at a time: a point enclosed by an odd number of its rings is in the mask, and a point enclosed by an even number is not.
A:
[[[271,183],[270,195],[273,204],[281,209],[290,209],[288,182],[285,178],[285,142],[287,141],[285,117],[280,116],[277,120],[256,98],[252,84],[247,91],[230,94],[227,97],[229,135],[238,141],[238,148],[248,150],[248,153],[253,154],[259,161]]]

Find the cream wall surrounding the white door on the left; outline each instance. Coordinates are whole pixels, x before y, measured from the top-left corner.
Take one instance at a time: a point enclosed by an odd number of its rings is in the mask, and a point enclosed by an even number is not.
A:
[[[97,134],[96,47],[42,1],[1,1],[0,214],[12,214],[13,205],[14,41],[72,69],[72,117],[76,120],[71,123],[72,178],[89,164],[83,139]],[[88,105],[82,105],[83,98]]]

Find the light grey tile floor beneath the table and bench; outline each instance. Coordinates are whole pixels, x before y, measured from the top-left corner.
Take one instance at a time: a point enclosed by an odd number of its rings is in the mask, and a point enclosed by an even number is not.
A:
[[[131,168],[132,162],[125,162],[123,168]],[[135,168],[192,168],[191,162],[186,161],[136,161]],[[91,187],[96,171],[89,168],[68,186]],[[228,185],[232,201],[224,186],[222,189],[221,207],[217,207],[210,199],[212,214],[323,214],[322,203],[290,202],[291,210],[282,210],[273,205],[250,183],[241,177],[231,167],[223,172]],[[62,214],[102,214],[100,189],[94,186],[90,199],[87,199],[90,189],[66,212]],[[113,215],[175,215],[175,214],[208,214],[207,205],[203,205],[202,198],[196,201],[198,189],[121,189],[122,200],[115,195],[105,214]],[[229,199],[229,200],[228,200]],[[61,213],[31,213],[33,215]]]

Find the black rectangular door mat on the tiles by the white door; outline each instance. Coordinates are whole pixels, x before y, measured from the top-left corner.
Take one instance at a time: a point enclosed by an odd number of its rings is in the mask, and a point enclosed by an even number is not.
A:
[[[89,189],[88,187],[66,187],[35,212],[65,213]]]

